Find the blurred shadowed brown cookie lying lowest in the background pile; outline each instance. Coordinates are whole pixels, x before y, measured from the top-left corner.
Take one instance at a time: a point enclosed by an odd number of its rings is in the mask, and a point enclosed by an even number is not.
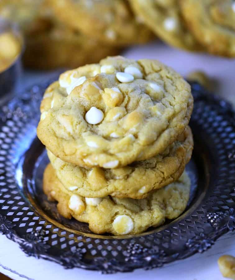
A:
[[[33,69],[75,68],[120,52],[81,32],[44,20],[31,26],[25,42],[23,63]]]

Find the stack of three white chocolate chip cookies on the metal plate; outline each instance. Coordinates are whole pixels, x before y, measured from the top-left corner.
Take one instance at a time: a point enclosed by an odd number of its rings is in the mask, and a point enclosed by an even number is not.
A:
[[[44,192],[95,233],[137,234],[186,208],[190,86],[155,60],[108,57],[48,87],[37,128]]]

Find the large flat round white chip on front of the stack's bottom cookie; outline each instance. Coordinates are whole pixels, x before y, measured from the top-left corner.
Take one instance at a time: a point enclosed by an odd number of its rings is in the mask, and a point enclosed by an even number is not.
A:
[[[113,228],[118,234],[128,234],[134,228],[131,217],[127,215],[118,215],[113,221]]]

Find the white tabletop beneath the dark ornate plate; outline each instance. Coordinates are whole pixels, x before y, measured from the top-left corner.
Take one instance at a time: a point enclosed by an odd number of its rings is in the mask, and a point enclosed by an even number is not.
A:
[[[188,72],[201,70],[219,82],[217,93],[224,96],[235,105],[235,60],[213,57],[205,54],[191,54],[170,48],[161,43],[152,43],[141,47],[126,50],[125,56],[129,58],[155,58],[173,67],[186,76]],[[35,74],[34,81],[38,82],[43,75]],[[29,84],[25,76],[22,84]],[[174,280],[220,280],[225,279],[219,272],[217,259],[223,254],[235,255],[235,233],[228,233],[203,254],[174,263],[163,268],[144,271],[138,269],[132,273],[117,273],[102,275],[99,272],[82,269],[66,270],[60,265],[26,257],[18,245],[5,236],[0,235],[0,272],[12,279],[34,280],[142,280],[142,279],[174,279]],[[1,279],[0,279],[1,280]]]

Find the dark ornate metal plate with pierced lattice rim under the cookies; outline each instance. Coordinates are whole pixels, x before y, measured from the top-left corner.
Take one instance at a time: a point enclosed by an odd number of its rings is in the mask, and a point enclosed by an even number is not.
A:
[[[51,81],[49,81],[51,82]],[[187,210],[137,236],[95,235],[85,223],[60,217],[42,192],[48,159],[36,137],[39,104],[48,86],[34,86],[0,110],[0,232],[25,254],[65,268],[103,273],[156,268],[207,250],[235,228],[235,114],[192,83],[195,149]]]

